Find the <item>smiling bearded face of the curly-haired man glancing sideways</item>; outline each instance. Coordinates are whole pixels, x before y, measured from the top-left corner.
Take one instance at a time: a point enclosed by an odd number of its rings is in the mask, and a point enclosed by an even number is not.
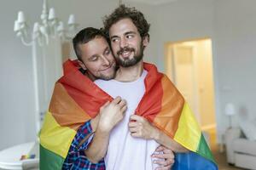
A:
[[[142,39],[131,19],[119,20],[109,29],[113,55],[123,67],[136,65],[143,59],[143,49],[148,45],[148,38]]]

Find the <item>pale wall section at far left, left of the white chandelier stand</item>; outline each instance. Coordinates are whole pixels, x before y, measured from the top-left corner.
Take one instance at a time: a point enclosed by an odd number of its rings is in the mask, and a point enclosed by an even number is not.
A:
[[[0,6],[0,149],[35,139],[32,49],[21,45],[13,31],[20,9],[26,10],[29,20],[36,20],[41,4],[12,0]]]

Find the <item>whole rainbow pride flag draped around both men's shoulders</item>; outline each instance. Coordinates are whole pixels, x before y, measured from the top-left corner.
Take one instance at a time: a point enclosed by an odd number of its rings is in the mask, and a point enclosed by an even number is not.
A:
[[[218,169],[183,96],[154,65],[144,63],[144,69],[148,71],[144,81],[146,92],[136,114],[144,116],[190,150],[177,156],[180,163],[176,163],[173,169],[193,169],[185,168],[191,167],[193,161],[199,162],[194,169]],[[95,117],[108,100],[113,98],[84,77],[76,62],[67,60],[64,76],[55,83],[49,111],[39,134],[40,169],[61,169],[79,127]]]

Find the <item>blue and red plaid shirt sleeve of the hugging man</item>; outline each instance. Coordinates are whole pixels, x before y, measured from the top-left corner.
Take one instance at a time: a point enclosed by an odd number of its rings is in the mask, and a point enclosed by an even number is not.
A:
[[[81,144],[81,146],[79,146],[81,140],[83,140],[90,133],[92,133],[90,121],[85,122],[84,125],[79,127],[79,130],[75,135],[73,142],[68,150],[68,154],[66,160],[63,163],[62,169],[105,170],[104,158],[102,158],[101,161],[95,164],[90,162],[85,156],[84,150],[86,150],[88,145],[90,144],[90,141],[93,138],[93,134],[90,135],[90,138],[87,139],[83,144]]]

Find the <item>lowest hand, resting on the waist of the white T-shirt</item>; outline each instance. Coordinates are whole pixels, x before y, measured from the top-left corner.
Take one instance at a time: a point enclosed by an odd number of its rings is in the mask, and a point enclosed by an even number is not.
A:
[[[163,145],[157,147],[152,157],[157,158],[153,163],[159,165],[155,170],[170,170],[174,163],[174,153]]]

